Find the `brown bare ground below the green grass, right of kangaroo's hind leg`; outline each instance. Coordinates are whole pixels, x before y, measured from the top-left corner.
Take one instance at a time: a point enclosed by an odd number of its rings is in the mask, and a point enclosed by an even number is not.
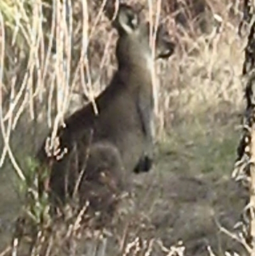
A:
[[[208,255],[209,245],[218,255],[226,250],[242,252],[242,246],[222,234],[217,226],[218,223],[233,231],[240,220],[245,191],[237,183],[219,174],[195,177],[172,172],[157,175],[156,172],[145,177],[146,186],[142,185],[144,181],[135,181],[136,189],[143,195],[138,199],[140,210],[154,226],[155,237],[162,239],[166,246],[182,240],[185,255]],[[145,197],[154,200],[145,200]]]

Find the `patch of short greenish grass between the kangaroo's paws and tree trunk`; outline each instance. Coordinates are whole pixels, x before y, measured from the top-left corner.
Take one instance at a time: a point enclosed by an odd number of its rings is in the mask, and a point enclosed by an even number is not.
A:
[[[179,124],[159,144],[157,161],[167,171],[230,175],[240,137],[240,132],[234,130],[236,123],[238,119],[224,125],[194,119],[189,124]]]

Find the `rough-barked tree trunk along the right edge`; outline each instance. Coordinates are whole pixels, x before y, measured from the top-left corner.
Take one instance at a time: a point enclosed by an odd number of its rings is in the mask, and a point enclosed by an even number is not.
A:
[[[243,75],[246,79],[244,128],[238,146],[238,158],[233,176],[242,181],[249,190],[247,207],[244,216],[244,237],[249,255],[255,255],[255,22],[252,1],[244,1],[244,15],[240,28],[244,22],[251,22],[251,29],[245,47]],[[252,23],[253,22],[253,23]],[[246,246],[245,246],[246,247]]]

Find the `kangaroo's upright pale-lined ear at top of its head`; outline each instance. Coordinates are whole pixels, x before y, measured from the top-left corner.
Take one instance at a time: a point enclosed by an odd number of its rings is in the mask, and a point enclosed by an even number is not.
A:
[[[134,31],[139,25],[138,14],[127,4],[121,4],[115,20],[113,20],[113,27],[117,29],[120,34],[129,34]]]

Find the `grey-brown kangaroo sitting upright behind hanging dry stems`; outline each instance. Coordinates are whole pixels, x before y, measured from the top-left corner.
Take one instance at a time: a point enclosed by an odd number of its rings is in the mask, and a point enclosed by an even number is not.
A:
[[[37,154],[38,160],[46,163],[51,171],[49,186],[58,197],[64,193],[64,173],[75,173],[75,162],[78,168],[85,169],[82,184],[86,177],[97,179],[95,169],[103,167],[112,172],[113,180],[117,172],[123,174],[125,182],[131,172],[147,172],[152,167],[152,61],[168,59],[175,44],[161,24],[153,59],[149,22],[140,22],[138,13],[126,4],[120,4],[113,27],[119,35],[115,50],[117,71],[95,100],[99,114],[94,114],[89,103],[66,118],[64,127],[57,130],[60,152],[65,152],[60,160],[47,156],[46,139]],[[90,151],[88,158],[85,151]],[[74,174],[68,175],[71,184]]]

